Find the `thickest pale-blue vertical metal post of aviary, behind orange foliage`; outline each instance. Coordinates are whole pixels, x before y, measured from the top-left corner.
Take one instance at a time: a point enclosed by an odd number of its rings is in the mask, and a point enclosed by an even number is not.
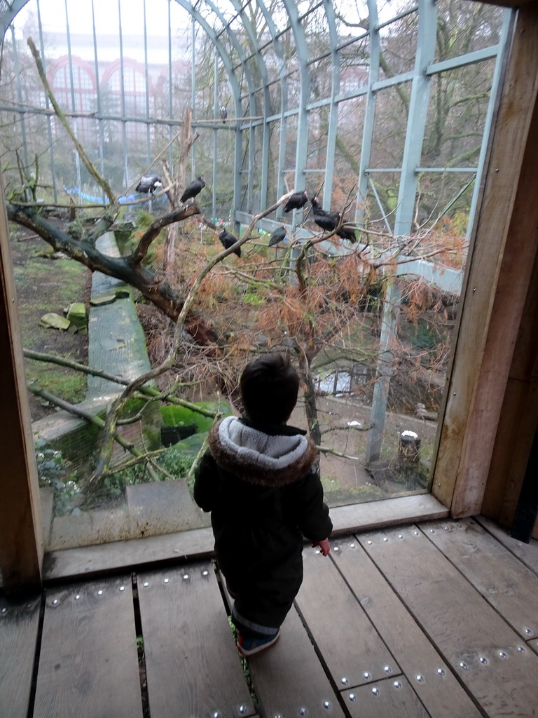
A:
[[[395,235],[397,236],[410,233],[412,216],[415,210],[415,195],[417,192],[417,173],[415,169],[422,154],[430,90],[430,78],[425,73],[425,67],[435,59],[436,27],[437,7],[435,0],[419,0],[417,53],[412,79],[409,116],[407,117],[400,192],[395,216]],[[392,366],[392,360],[394,359],[393,347],[397,338],[397,315],[400,301],[400,290],[395,285],[395,282],[389,279],[385,288],[382,329],[381,337],[379,337],[377,378],[374,385],[370,414],[372,429],[369,430],[367,437],[367,463],[378,460],[381,452],[390,377],[394,373]]]

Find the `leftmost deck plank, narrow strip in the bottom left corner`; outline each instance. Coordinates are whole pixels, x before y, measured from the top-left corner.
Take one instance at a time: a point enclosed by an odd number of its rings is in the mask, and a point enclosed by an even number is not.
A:
[[[0,597],[0,715],[27,718],[39,630],[41,596],[23,602]]]

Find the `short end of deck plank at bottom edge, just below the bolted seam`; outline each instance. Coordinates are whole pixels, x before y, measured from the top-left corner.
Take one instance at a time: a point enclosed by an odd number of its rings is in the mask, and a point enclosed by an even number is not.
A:
[[[351,718],[430,717],[404,676],[346,691],[344,699]]]

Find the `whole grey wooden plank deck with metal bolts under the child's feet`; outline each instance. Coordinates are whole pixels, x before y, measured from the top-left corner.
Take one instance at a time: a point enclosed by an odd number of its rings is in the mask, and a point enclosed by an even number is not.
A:
[[[538,716],[538,541],[480,518],[332,548],[247,676],[210,561],[0,598],[0,716]]]

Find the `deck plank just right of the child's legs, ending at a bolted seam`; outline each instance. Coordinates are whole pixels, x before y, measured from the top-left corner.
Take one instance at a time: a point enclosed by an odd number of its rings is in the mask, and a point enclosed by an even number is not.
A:
[[[383,679],[388,671],[400,673],[333,561],[308,549],[303,564],[296,602],[336,686],[354,688]]]

